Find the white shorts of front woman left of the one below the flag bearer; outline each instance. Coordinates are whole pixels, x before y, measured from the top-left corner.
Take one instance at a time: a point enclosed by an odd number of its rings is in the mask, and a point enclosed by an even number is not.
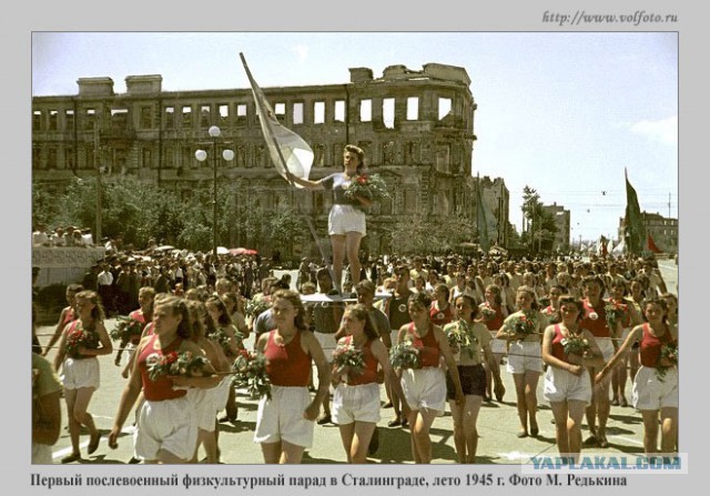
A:
[[[271,386],[272,398],[262,396],[256,413],[255,443],[285,441],[310,448],[313,445],[315,423],[303,416],[311,404],[307,387]]]

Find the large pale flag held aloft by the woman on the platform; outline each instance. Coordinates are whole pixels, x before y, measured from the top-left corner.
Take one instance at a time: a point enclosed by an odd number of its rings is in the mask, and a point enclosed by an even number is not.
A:
[[[278,120],[274,110],[266,101],[262,89],[258,88],[252,72],[246,65],[244,54],[240,53],[242,64],[246,71],[246,77],[252,85],[252,93],[254,95],[254,103],[256,103],[256,113],[258,115],[258,122],[266,140],[266,146],[268,148],[268,155],[271,156],[276,171],[286,179],[286,171],[290,171],[293,175],[301,179],[308,179],[311,173],[311,165],[313,165],[313,158],[315,156],[308,143],[306,143],[298,134],[284,128]],[[296,188],[303,188],[298,184],[294,184]]]

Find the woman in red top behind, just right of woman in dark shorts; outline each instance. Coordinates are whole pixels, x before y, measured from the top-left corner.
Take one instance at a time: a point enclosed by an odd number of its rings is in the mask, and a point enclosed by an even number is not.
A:
[[[490,284],[486,287],[484,293],[485,302],[479,305],[478,318],[488,328],[488,332],[498,333],[498,330],[503,325],[504,321],[508,316],[508,308],[503,304],[503,292],[497,284]],[[505,340],[495,337],[490,344],[490,352],[497,364],[496,367],[489,367],[487,362],[484,362],[484,368],[486,371],[486,396],[488,399],[496,395],[498,403],[503,402],[503,397],[506,394],[506,388],[503,385],[500,377],[500,363],[503,357],[507,353],[508,343]],[[495,381],[494,381],[495,379]],[[495,387],[493,386],[495,382]]]

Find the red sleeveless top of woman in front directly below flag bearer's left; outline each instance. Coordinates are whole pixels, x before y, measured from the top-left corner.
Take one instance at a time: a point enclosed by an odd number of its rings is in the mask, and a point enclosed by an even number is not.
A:
[[[274,343],[276,331],[268,333],[264,347],[266,374],[275,386],[306,387],[311,375],[311,355],[301,347],[301,331],[284,346]]]

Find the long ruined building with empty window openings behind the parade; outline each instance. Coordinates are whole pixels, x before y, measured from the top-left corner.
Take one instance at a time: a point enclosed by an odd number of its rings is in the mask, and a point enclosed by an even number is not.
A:
[[[363,148],[371,173],[392,185],[392,199],[368,215],[363,246],[371,253],[392,249],[390,226],[408,215],[457,217],[476,222],[471,154],[476,103],[465,69],[427,63],[423,70],[390,65],[382,78],[367,68],[349,70],[343,84],[263,88],[281,122],[313,149],[311,179],[342,170],[343,146]],[[72,178],[99,170],[110,181],[134,174],[187,195],[213,183],[213,161],[195,151],[211,142],[207,129],[219,125],[217,181],[227,184],[239,212],[286,204],[311,215],[326,236],[329,192],[288,186],[268,159],[251,89],[163,91],[162,77],[129,75],[126,92],[115,93],[110,78],[80,78],[77,95],[32,99],[32,174],[61,189]],[[207,151],[210,149],[207,148]],[[497,184],[496,211],[508,225],[508,192]],[[240,232],[220,244],[247,241]],[[475,233],[462,233],[463,240]],[[501,245],[505,240],[498,236]],[[311,236],[296,240],[295,252],[313,252]]]

